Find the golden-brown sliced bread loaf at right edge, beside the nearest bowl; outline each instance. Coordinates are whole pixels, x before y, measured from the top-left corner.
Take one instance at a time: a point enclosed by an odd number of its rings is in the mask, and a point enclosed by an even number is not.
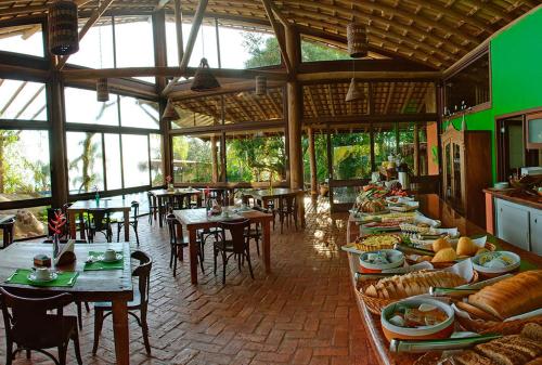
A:
[[[470,295],[468,302],[505,320],[541,307],[542,270],[526,271]]]

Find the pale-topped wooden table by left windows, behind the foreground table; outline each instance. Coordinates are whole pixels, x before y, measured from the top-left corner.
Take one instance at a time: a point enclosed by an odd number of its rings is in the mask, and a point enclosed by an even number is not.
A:
[[[125,199],[100,199],[100,205],[96,204],[95,199],[92,200],[77,200],[68,209],[68,220],[69,220],[69,236],[72,238],[76,238],[76,225],[75,225],[75,216],[79,214],[80,220],[83,221],[83,213],[89,209],[109,209],[111,211],[120,211],[124,214],[125,221],[125,240],[130,240],[130,210],[131,201]],[[82,227],[81,227],[82,230]]]

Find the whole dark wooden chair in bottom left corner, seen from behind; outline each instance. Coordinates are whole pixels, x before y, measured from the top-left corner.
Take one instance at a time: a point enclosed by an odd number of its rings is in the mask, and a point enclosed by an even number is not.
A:
[[[30,359],[31,351],[38,351],[54,364],[65,365],[69,340],[74,341],[77,363],[81,365],[77,318],[63,314],[64,307],[73,301],[74,297],[67,292],[48,298],[25,298],[0,288],[5,327],[5,365],[11,365],[20,351],[26,351],[27,359]],[[48,314],[52,310],[56,310],[56,314]],[[17,347],[15,351],[13,344]],[[51,348],[59,349],[59,360],[46,351]]]

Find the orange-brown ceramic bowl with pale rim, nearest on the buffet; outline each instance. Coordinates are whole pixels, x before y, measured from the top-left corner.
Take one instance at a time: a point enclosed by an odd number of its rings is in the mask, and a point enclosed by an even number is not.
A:
[[[420,304],[431,304],[435,305],[448,315],[448,318],[439,323],[435,326],[424,326],[420,328],[405,328],[392,325],[388,322],[388,317],[393,313],[397,304],[405,304],[412,308],[417,308]],[[448,338],[452,335],[454,330],[454,311],[453,309],[443,303],[441,301],[429,299],[429,298],[420,298],[420,299],[405,299],[395,303],[391,303],[385,307],[380,314],[380,324],[382,329],[384,331],[384,336],[388,341],[392,339],[401,339],[401,340],[429,340],[429,339],[439,339],[439,338]]]

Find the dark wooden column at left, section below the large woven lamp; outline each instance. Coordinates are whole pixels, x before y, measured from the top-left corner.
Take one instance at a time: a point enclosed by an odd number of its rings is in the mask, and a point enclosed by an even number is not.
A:
[[[64,123],[63,84],[59,71],[52,71],[49,88],[49,151],[51,154],[52,207],[61,208],[68,198],[66,129]]]

